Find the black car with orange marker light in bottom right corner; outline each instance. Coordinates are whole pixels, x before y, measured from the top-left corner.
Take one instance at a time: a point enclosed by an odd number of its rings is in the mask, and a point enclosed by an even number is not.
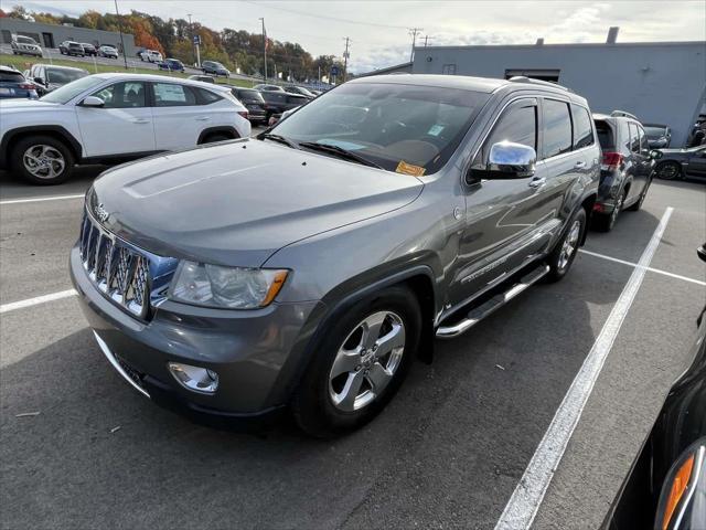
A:
[[[706,247],[698,250],[706,262]],[[706,318],[697,319],[693,362],[677,379],[633,462],[603,528],[706,528]]]

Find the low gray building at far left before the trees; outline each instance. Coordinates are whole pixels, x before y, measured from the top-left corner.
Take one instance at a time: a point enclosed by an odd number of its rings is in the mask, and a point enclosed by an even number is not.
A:
[[[90,28],[76,28],[72,25],[40,24],[21,19],[0,19],[0,41],[9,44],[12,35],[26,35],[34,39],[42,47],[57,47],[62,41],[89,42],[94,45],[115,46],[122,53],[120,33],[113,31],[92,30]],[[133,57],[135,39],[129,33],[122,33],[125,51],[128,57]],[[53,42],[52,42],[53,41]],[[53,44],[53,45],[52,45]]]

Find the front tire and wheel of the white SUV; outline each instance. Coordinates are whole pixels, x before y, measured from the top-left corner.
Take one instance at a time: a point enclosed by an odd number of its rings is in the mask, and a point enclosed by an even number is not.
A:
[[[32,160],[36,160],[34,163],[43,167],[32,171]],[[38,135],[21,138],[12,148],[10,162],[13,171],[28,182],[54,186],[65,182],[71,177],[74,157],[63,141],[51,136]]]

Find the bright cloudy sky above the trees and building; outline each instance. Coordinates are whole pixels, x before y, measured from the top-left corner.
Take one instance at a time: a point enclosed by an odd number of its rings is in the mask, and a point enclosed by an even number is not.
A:
[[[114,11],[113,0],[3,0],[3,7],[79,14]],[[694,1],[409,1],[409,0],[118,0],[162,18],[186,18],[221,30],[260,31],[299,42],[312,55],[341,56],[351,38],[351,71],[366,72],[409,60],[409,28],[421,28],[417,43],[429,45],[605,42],[620,26],[618,42],[706,40],[706,3]]]

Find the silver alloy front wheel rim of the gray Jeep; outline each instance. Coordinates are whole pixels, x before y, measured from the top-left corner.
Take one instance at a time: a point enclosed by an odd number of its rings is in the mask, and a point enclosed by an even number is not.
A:
[[[405,324],[392,311],[377,311],[345,338],[329,373],[329,396],[344,412],[359,411],[378,398],[399,368]]]

